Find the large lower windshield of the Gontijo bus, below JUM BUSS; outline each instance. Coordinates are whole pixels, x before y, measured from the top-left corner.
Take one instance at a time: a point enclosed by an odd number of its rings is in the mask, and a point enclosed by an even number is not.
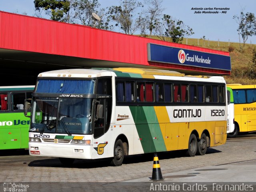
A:
[[[91,98],[35,97],[30,132],[92,134]]]

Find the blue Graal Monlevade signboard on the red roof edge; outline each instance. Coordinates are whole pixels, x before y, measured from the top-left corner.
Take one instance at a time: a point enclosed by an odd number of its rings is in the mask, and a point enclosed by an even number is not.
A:
[[[230,56],[148,43],[148,61],[231,71]]]

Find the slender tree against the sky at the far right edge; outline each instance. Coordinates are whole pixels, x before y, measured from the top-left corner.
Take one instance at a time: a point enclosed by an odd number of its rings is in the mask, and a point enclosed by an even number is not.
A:
[[[248,40],[248,36],[253,36],[256,34],[256,19],[253,13],[247,12],[244,14],[243,11],[244,9],[241,10],[240,15],[234,15],[233,19],[236,20],[236,23],[238,24],[237,31],[239,36],[239,44],[241,35],[243,39],[243,45],[245,45],[245,42]]]

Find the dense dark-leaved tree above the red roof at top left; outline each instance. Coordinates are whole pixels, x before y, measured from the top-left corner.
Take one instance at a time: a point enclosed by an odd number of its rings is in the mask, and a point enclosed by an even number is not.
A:
[[[34,4],[37,11],[45,10],[54,21],[62,21],[70,10],[69,0],[34,0]]]

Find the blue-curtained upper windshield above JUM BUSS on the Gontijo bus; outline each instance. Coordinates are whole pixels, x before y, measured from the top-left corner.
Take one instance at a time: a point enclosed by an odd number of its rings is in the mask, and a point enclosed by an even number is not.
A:
[[[92,94],[94,81],[92,80],[38,80],[36,92],[40,93],[66,93],[66,94]]]

